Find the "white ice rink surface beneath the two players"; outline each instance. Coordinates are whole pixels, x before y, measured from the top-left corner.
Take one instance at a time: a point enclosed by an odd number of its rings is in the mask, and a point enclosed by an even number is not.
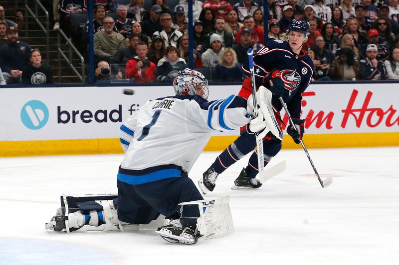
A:
[[[230,195],[234,233],[192,246],[149,230],[44,230],[62,193],[116,192],[122,155],[0,158],[0,264],[399,264],[399,148],[309,152],[330,186],[301,149],[282,150],[270,165],[287,169],[261,188],[231,190],[244,158],[206,196]],[[195,183],[218,154],[200,155]]]

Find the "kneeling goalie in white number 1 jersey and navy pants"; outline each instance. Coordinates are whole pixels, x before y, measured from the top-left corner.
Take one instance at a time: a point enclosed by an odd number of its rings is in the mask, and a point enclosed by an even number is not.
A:
[[[194,208],[179,204],[203,200],[188,177],[202,149],[215,131],[247,125],[249,132],[260,132],[266,124],[261,109],[256,118],[250,118],[252,100],[247,105],[247,99],[230,95],[208,102],[207,80],[197,71],[179,71],[173,86],[175,96],[147,101],[121,126],[125,157],[117,176],[117,206],[112,201],[116,196],[69,196],[70,207],[68,197],[61,198],[65,205],[46,224],[47,229],[122,230],[129,224],[148,224],[162,214],[175,220],[157,231],[164,239],[197,242],[202,235],[197,226],[198,202]]]

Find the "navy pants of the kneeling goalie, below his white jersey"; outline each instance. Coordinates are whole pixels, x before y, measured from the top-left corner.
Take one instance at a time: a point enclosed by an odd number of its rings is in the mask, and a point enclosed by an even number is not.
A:
[[[179,203],[203,200],[189,177],[171,177],[140,185],[117,181],[118,218],[131,224],[148,224],[159,217],[180,217]]]

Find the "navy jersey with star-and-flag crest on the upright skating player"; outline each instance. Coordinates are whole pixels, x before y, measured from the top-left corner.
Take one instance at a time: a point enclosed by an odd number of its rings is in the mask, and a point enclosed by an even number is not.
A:
[[[312,59],[303,51],[295,54],[288,42],[270,40],[263,48],[253,56],[256,87],[263,84],[263,78],[272,70],[278,69],[285,85],[283,93],[284,102],[293,118],[299,118],[301,112],[302,92],[309,86],[312,79],[314,64]],[[242,65],[245,75],[250,77],[248,61]],[[245,86],[245,81],[243,84]],[[241,92],[240,92],[240,95]],[[277,96],[273,95],[272,105],[276,111],[282,109]]]

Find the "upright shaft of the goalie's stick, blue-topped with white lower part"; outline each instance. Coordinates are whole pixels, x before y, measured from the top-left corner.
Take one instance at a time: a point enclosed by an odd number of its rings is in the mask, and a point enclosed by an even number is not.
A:
[[[253,70],[253,50],[248,49],[247,51],[248,55],[248,62],[249,62],[249,72],[251,73],[251,87],[252,87],[252,103],[253,103],[253,113],[255,117],[258,115],[258,102],[256,99],[256,85],[255,85],[255,72]],[[259,170],[259,175],[261,176],[263,173],[263,170],[265,168],[264,164],[264,157],[263,157],[263,138],[259,136],[259,134],[255,133],[256,136],[256,147],[258,149],[257,155],[258,155],[258,170]]]

